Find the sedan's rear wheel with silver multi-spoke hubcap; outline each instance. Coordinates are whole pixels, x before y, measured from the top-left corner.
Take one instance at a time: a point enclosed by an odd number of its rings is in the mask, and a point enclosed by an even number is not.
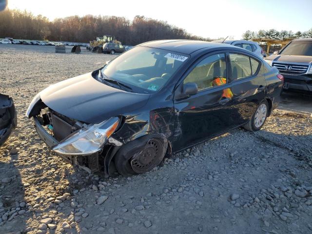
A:
[[[254,112],[253,117],[243,127],[249,131],[258,131],[264,125],[269,113],[269,104],[263,100]]]

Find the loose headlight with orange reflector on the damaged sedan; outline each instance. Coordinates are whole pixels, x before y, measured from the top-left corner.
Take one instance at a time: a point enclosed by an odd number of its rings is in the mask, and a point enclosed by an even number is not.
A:
[[[101,150],[105,141],[116,131],[119,118],[87,125],[66,137],[53,151],[62,155],[91,155]]]

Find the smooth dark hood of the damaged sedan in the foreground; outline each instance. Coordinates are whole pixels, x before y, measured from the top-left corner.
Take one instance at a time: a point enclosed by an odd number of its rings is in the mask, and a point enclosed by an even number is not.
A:
[[[99,123],[144,106],[150,95],[129,93],[103,84],[92,73],[70,78],[40,92],[41,100],[61,115]]]

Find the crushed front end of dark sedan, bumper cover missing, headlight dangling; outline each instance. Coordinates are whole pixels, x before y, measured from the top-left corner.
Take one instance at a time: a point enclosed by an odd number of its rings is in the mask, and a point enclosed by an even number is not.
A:
[[[88,124],[50,109],[39,96],[31,102],[26,116],[34,118],[39,137],[62,159],[89,173],[103,168],[108,175],[105,157],[110,157],[107,154],[111,152],[112,146],[121,145],[111,137],[119,127],[118,117]]]

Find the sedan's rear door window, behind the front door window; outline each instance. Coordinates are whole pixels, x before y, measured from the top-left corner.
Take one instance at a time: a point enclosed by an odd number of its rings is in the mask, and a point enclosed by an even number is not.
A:
[[[230,61],[232,67],[232,79],[240,79],[252,75],[252,69],[248,56],[230,54]]]

